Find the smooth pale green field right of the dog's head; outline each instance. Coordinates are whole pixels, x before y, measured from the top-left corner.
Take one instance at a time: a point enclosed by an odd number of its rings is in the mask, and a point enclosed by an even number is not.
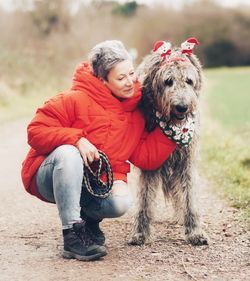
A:
[[[205,72],[211,117],[227,130],[250,127],[250,68],[220,68]]]

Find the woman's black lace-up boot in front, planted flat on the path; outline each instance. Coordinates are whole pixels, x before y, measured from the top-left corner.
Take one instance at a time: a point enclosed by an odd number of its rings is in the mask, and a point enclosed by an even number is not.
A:
[[[106,256],[104,246],[93,241],[91,232],[86,227],[85,221],[73,224],[70,229],[63,230],[65,258],[75,258],[82,261],[96,260]]]

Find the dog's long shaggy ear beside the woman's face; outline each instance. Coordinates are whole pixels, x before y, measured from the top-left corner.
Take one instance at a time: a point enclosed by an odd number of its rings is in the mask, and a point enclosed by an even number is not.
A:
[[[142,85],[142,98],[139,103],[139,109],[144,116],[147,131],[152,131],[156,127],[152,81],[154,81],[155,75],[161,66],[161,61],[159,54],[153,53],[146,57],[139,66],[138,78]]]

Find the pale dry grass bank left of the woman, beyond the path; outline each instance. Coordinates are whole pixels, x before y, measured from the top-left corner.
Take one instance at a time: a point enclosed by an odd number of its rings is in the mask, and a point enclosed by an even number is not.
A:
[[[0,47],[0,61],[0,122],[32,116],[46,99],[70,87],[74,67],[65,59]]]

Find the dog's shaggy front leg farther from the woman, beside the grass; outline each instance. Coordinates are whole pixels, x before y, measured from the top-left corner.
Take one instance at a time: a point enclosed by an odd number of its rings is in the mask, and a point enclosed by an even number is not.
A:
[[[191,243],[192,245],[207,245],[208,237],[206,233],[201,229],[200,218],[194,205],[193,186],[194,171],[192,170],[191,165],[187,165],[186,170],[184,170],[184,173],[181,177],[185,237],[186,241],[188,243]]]

